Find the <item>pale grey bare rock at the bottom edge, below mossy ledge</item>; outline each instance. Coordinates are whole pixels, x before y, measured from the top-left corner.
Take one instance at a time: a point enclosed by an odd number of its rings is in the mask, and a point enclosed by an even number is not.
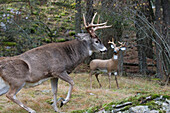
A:
[[[148,106],[135,106],[129,109],[130,113],[149,113],[150,109]]]

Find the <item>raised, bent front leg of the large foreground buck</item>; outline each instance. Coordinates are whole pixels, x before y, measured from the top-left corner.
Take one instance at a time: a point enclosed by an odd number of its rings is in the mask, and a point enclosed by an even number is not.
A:
[[[59,75],[59,78],[61,78],[62,80],[64,80],[65,82],[68,82],[70,87],[69,87],[69,91],[68,91],[68,94],[67,94],[67,97],[66,99],[63,101],[63,104],[66,104],[69,100],[70,100],[70,97],[71,97],[71,93],[72,93],[72,89],[73,89],[73,86],[74,86],[74,81],[72,80],[72,78],[67,74],[67,72],[63,72]]]

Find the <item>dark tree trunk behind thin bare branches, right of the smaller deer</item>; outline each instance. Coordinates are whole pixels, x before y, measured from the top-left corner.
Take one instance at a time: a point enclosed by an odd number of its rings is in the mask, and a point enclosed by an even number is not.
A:
[[[144,1],[136,1],[137,4],[142,4],[140,6],[140,11],[147,17],[149,20],[149,14],[148,14],[148,5],[149,3],[147,0]],[[141,15],[139,12],[137,15]],[[137,38],[137,49],[138,49],[138,61],[139,61],[139,72],[141,74],[146,75],[146,72],[148,71],[147,68],[147,56],[149,56],[147,53],[150,53],[152,50],[152,46],[149,44],[152,43],[149,38],[145,35],[149,34],[149,31],[147,29],[144,29],[146,26],[141,22],[140,18],[136,17],[136,28],[138,30],[136,34]],[[149,44],[147,44],[149,42]],[[151,44],[152,45],[152,44]],[[148,47],[149,46],[149,47]]]

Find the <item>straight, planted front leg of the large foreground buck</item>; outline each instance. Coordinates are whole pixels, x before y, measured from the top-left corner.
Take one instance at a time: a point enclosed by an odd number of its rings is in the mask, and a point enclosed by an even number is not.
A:
[[[58,112],[57,108],[57,90],[58,90],[58,78],[52,78],[51,80],[51,87],[52,87],[52,92],[53,92],[53,107],[56,112]]]

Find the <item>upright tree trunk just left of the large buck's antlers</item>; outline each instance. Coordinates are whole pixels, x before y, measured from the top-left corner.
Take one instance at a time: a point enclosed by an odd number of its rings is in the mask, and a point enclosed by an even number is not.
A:
[[[81,33],[81,0],[76,0],[75,32]]]

